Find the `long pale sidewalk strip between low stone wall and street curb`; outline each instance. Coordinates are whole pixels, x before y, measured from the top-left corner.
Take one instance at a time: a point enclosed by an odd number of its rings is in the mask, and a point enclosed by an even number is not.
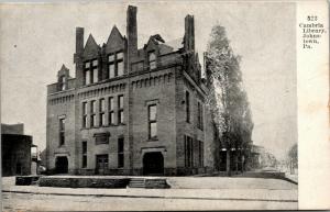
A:
[[[298,201],[297,190],[267,189],[72,189],[37,186],[4,186],[2,188],[2,192],[80,197],[95,196],[121,198],[245,200],[276,202]]]

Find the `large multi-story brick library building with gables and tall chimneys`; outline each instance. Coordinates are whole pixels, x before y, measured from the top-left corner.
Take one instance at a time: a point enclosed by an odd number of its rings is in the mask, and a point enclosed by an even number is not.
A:
[[[85,44],[76,29],[76,78],[63,65],[47,87],[47,169],[75,175],[193,175],[212,171],[208,89],[195,52],[194,16],[166,43],[138,48],[138,9],[127,36],[116,25],[107,43]],[[84,45],[85,44],[85,45]]]

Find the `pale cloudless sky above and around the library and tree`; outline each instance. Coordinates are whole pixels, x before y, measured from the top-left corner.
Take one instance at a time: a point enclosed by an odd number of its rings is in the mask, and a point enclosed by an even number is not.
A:
[[[183,37],[186,14],[195,16],[199,55],[215,24],[226,27],[242,57],[243,83],[251,104],[253,143],[283,158],[297,142],[296,7],[285,2],[177,1],[133,2],[138,42],[150,35]],[[0,5],[1,123],[24,123],[25,134],[46,146],[46,86],[65,64],[75,75],[75,29],[85,27],[106,43],[116,24],[125,35],[128,3],[30,3]]]

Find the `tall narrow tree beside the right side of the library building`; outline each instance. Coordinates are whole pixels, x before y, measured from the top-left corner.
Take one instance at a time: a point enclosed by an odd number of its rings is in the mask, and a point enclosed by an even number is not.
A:
[[[243,88],[240,56],[229,45],[226,29],[213,26],[206,53],[206,77],[210,88],[208,104],[212,112],[220,146],[227,149],[228,175],[231,175],[231,154],[234,149],[234,167],[243,170],[249,157],[253,129],[250,104]]]

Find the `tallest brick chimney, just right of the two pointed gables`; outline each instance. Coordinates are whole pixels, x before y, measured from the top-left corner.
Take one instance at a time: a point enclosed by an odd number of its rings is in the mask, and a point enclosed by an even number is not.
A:
[[[136,7],[129,5],[127,14],[128,56],[129,60],[138,55]]]

